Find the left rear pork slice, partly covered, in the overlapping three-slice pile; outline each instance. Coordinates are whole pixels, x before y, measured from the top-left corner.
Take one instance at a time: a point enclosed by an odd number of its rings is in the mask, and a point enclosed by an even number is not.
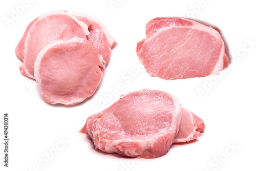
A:
[[[74,34],[84,38],[88,30],[81,28],[66,11],[53,11],[37,17],[27,27],[16,47],[16,55],[23,59],[20,71],[34,78],[34,62],[43,48],[58,39],[67,27],[72,27]]]

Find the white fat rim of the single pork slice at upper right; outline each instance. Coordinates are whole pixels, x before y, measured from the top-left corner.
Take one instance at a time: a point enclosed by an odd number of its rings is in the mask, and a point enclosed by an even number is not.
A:
[[[169,27],[163,27],[161,29],[158,30],[157,33],[155,33],[152,37],[149,37],[149,38],[146,38],[145,41],[147,40],[151,40],[153,39],[154,37],[156,37],[159,33],[161,33],[162,31],[165,31],[165,30],[168,30],[168,29],[171,29],[171,28],[191,28],[191,29],[195,29],[195,30],[200,30],[200,31],[205,31],[205,32],[208,32],[210,33],[211,35],[214,35],[217,39],[221,40],[221,43],[222,43],[222,47],[221,47],[221,53],[220,53],[220,56],[219,56],[219,59],[214,67],[214,69],[212,70],[211,74],[219,74],[220,70],[223,69],[223,65],[224,65],[224,61],[223,61],[223,56],[225,55],[225,46],[224,46],[224,41],[223,39],[221,38],[221,35],[220,33],[211,28],[211,27],[208,27],[208,26],[205,26],[203,24],[200,24],[198,22],[195,22],[194,20],[189,20],[189,19],[185,19],[185,18],[181,18],[181,19],[184,19],[184,20],[187,20],[188,22],[191,22],[193,23],[194,25],[193,26],[169,26]],[[141,51],[141,50],[140,50]],[[139,51],[139,52],[140,52]],[[142,62],[142,61],[141,61]],[[147,70],[146,70],[147,71]],[[152,73],[152,76],[154,76],[156,74],[153,74]]]

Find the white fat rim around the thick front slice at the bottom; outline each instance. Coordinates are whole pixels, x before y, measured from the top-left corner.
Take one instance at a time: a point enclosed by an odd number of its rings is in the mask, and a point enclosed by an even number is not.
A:
[[[151,91],[151,90],[150,89],[143,89],[141,91]],[[160,91],[160,90],[157,90],[157,91]],[[130,93],[123,94],[123,95],[121,95],[120,98],[123,98],[124,96],[126,96],[128,94],[131,94],[131,93],[134,93],[134,92],[137,92],[137,91],[133,91],[133,92],[130,92]],[[163,92],[163,91],[160,91],[160,92]],[[164,92],[164,93],[166,93],[166,92]],[[175,136],[173,137],[173,142],[174,142],[175,137],[177,136],[177,134],[179,132],[179,125],[180,125],[180,121],[181,121],[181,105],[180,105],[180,102],[179,102],[178,98],[175,95],[173,95],[172,93],[168,93],[168,94],[174,100],[175,111],[174,111],[174,114],[173,114],[172,127],[170,127],[170,130],[167,133],[166,133],[166,131],[164,131],[163,133],[159,133],[158,136],[156,136],[156,137],[152,137],[150,139],[145,139],[145,140],[131,140],[131,139],[102,140],[99,137],[99,131],[97,130],[97,124],[96,124],[97,121],[96,121],[95,125],[92,128],[93,139],[95,139],[95,137],[98,136],[98,144],[97,145],[95,144],[96,147],[101,149],[101,151],[105,151],[105,152],[108,152],[108,153],[118,153],[118,151],[116,150],[116,146],[118,146],[121,142],[127,142],[127,144],[131,143],[131,142],[136,142],[141,147],[142,153],[143,153],[144,150],[146,148],[148,148],[148,146],[153,147],[154,143],[156,142],[156,140],[159,136],[164,136],[164,135],[168,134],[169,132],[172,132],[172,130],[176,128]],[[177,123],[175,123],[176,121],[177,121]],[[102,142],[102,141],[105,142],[105,146],[104,146],[105,150],[103,150],[103,148],[101,146],[100,142]],[[129,148],[129,150],[131,150],[131,148]],[[132,153],[133,156],[130,155],[131,151],[129,151],[129,152],[124,151],[124,153],[125,153],[126,156],[130,156],[130,157],[136,157],[136,156],[141,155],[141,154],[135,153],[135,151],[136,151],[136,148],[133,148],[133,153]]]

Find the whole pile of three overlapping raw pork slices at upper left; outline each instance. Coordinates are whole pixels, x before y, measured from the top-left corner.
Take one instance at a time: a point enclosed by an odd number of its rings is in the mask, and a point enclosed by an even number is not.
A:
[[[29,24],[16,55],[47,102],[73,105],[93,95],[116,45],[97,19],[59,10]]]

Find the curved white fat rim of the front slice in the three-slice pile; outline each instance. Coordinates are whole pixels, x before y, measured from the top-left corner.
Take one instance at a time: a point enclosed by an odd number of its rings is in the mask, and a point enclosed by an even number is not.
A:
[[[84,43],[84,40],[85,39],[79,38],[79,37],[76,37],[76,36],[71,38],[71,39],[68,39],[68,40],[59,40],[59,39],[57,39],[55,41],[52,41],[44,49],[42,49],[38,53],[38,55],[35,59],[35,63],[34,63],[34,76],[35,76],[36,82],[40,82],[39,68],[40,68],[41,59],[49,49],[51,49],[52,47],[54,47],[56,45],[60,45],[60,44],[69,44],[69,43],[72,43],[72,42]]]

